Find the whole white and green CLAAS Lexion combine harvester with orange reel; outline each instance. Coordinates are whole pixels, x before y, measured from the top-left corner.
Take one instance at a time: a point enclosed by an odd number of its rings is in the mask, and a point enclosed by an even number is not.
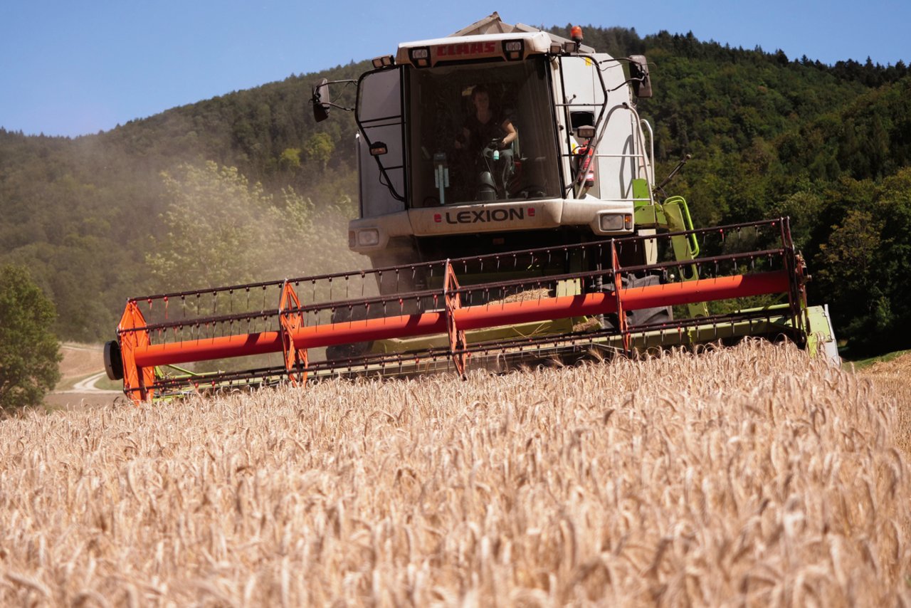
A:
[[[330,89],[349,85],[343,108]],[[317,83],[315,118],[358,124],[349,247],[372,268],[130,298],[108,376],[138,403],[744,336],[837,359],[787,218],[697,229],[655,182],[650,96],[645,57],[496,13]]]

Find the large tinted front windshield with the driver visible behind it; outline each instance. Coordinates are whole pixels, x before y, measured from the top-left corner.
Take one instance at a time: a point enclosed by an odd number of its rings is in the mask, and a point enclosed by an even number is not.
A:
[[[545,57],[407,71],[413,206],[559,196]]]

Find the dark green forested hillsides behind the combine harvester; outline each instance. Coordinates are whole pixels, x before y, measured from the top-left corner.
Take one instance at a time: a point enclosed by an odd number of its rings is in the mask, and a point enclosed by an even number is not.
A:
[[[568,36],[567,28],[554,28]],[[911,345],[911,76],[825,66],[661,32],[585,29],[649,57],[657,174],[710,225],[792,216],[836,330],[857,349]],[[159,289],[361,265],[350,113],[315,124],[312,83],[367,62],[238,91],[77,139],[0,129],[0,263],[27,265],[58,334],[107,339],[124,299]],[[353,103],[353,88],[342,102]],[[259,184],[259,185],[257,185]],[[215,203],[214,201],[219,201]]]

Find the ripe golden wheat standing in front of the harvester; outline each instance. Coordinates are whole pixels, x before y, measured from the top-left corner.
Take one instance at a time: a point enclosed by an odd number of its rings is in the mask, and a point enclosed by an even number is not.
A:
[[[748,342],[8,417],[0,604],[911,605],[909,396]]]

